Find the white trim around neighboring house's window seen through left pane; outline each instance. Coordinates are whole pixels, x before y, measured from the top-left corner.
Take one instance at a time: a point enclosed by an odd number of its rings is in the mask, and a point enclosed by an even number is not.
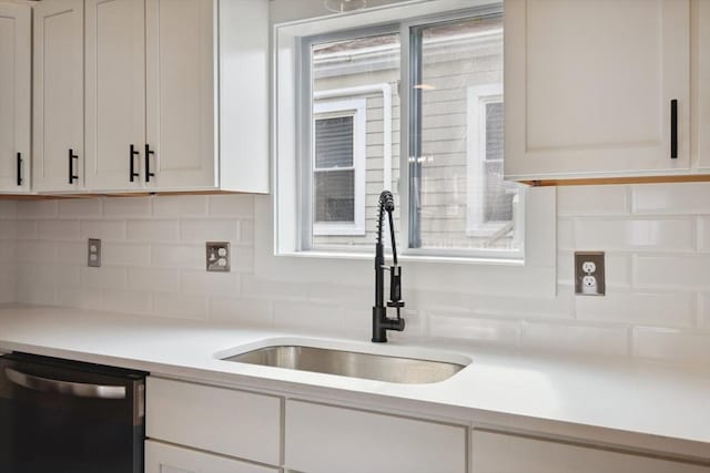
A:
[[[316,96],[317,99],[317,96]],[[351,223],[313,223],[313,235],[365,235],[365,166],[367,130],[367,99],[352,97],[338,101],[316,102],[313,105],[313,136],[315,143],[315,121],[327,117],[353,117],[353,168],[355,169],[355,220]],[[311,156],[311,174],[315,174],[315,147]],[[315,219],[315,217],[314,217]]]

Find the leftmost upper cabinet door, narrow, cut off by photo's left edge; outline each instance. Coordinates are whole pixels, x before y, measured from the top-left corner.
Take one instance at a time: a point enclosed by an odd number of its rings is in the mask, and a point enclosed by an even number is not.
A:
[[[29,189],[32,10],[0,3],[0,191]]]

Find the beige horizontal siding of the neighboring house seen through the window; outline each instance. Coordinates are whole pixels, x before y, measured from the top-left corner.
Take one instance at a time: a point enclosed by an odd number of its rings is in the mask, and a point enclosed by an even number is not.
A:
[[[470,86],[503,82],[501,35],[487,35],[480,45],[468,42],[429,47],[425,52],[424,83],[433,90],[423,91],[423,165],[422,181],[422,246],[423,247],[493,247],[509,248],[511,233],[488,244],[486,236],[467,235],[468,208],[468,113],[467,90]],[[369,52],[372,54],[372,52]],[[394,55],[394,54],[393,54]],[[329,64],[328,76],[314,78],[316,91],[345,89],[366,84],[392,85],[392,191],[397,194],[399,182],[399,70],[354,66],[356,53],[349,51],[342,71]],[[375,70],[374,70],[375,69]],[[365,70],[365,72],[362,72]],[[337,75],[333,75],[337,74]],[[359,95],[362,96],[362,95]],[[375,240],[377,198],[383,188],[383,100],[381,94],[367,95],[366,140],[366,234],[362,236],[317,236],[314,246],[371,245]],[[398,199],[397,199],[398,203]],[[397,225],[397,228],[399,226]],[[404,229],[402,229],[404,230]]]

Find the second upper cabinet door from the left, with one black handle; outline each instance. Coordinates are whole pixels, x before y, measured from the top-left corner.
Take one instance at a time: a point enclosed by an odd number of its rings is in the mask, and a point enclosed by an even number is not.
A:
[[[38,191],[83,186],[83,0],[34,4],[32,175]]]

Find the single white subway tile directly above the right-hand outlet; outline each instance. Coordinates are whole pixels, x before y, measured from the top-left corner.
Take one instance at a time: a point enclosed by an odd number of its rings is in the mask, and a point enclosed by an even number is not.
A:
[[[692,218],[575,220],[575,243],[579,249],[668,250],[696,249],[696,222]]]

